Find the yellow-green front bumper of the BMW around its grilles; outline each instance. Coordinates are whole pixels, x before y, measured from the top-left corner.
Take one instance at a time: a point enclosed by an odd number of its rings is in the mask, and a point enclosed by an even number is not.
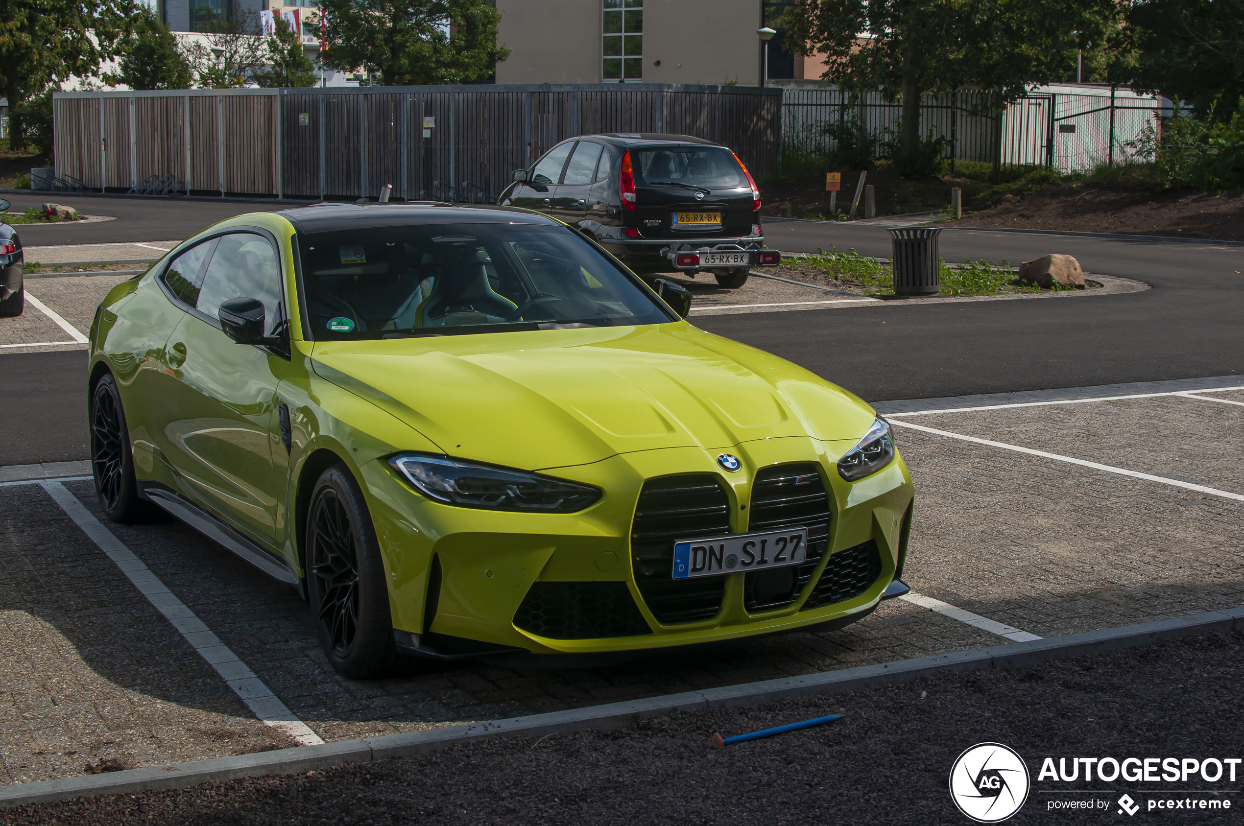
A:
[[[440,505],[401,481],[387,463],[371,462],[362,469],[364,490],[384,552],[396,633],[432,633],[532,653],[587,653],[684,646],[863,616],[902,570],[913,488],[901,457],[867,479],[843,481],[835,464],[853,444],[791,437],[729,445],[724,449],[743,460],[736,473],[717,466],[720,450],[700,448],[621,454],[545,470],[607,491],[592,508],[571,515]],[[832,514],[824,552],[795,598],[758,608],[745,578],[751,575],[728,573],[708,577],[723,583],[719,605],[690,621],[671,618],[677,605],[673,612],[666,603],[649,605],[653,592],[649,587],[646,597],[641,587],[631,535],[644,483],[671,474],[713,474],[729,499],[730,530],[744,532],[756,473],[787,463],[816,465]],[[861,554],[876,557],[868,570],[872,580],[847,598],[826,601],[835,591],[822,575]],[[855,570],[858,580],[860,566]],[[547,593],[570,595],[570,602],[536,598]],[[567,620],[571,603],[578,613]],[[627,616],[615,622],[593,611]],[[601,628],[620,633],[605,636]]]

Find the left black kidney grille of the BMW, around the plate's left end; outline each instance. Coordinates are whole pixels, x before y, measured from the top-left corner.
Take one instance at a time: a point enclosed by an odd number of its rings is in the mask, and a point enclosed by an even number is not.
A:
[[[674,541],[730,532],[730,499],[708,473],[644,483],[631,525],[631,566],[643,601],[663,624],[710,620],[722,608],[724,576],[674,580]]]

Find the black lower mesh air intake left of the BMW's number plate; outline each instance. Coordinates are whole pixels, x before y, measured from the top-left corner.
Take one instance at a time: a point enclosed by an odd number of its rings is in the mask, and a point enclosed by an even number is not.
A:
[[[514,624],[549,639],[652,633],[626,582],[534,582]]]

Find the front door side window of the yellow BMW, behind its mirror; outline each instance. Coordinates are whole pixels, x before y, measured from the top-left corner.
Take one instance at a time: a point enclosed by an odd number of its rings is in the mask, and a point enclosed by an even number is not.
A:
[[[195,309],[216,318],[220,305],[230,299],[259,299],[264,302],[265,335],[284,317],[281,306],[281,267],[276,250],[262,235],[235,233],[221,235],[211,255]]]

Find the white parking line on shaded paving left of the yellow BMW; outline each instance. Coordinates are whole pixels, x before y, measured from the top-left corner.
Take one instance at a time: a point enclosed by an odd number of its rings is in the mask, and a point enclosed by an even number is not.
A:
[[[285,703],[255,677],[246,663],[241,662],[228,646],[211,633],[211,631],[194,616],[173,592],[159,581],[143,561],[134,556],[133,551],[112,535],[98,519],[95,517],[86,506],[71,494],[60,480],[40,481],[40,486],[56,500],[56,504],[68,514],[78,527],[82,529],[91,540],[108,555],[121,572],[124,573],[134,587],[142,591],[143,596],[156,606],[174,628],[185,638],[188,643],[199,652],[199,656],[208,661],[220,678],[229,684],[229,688],[241,698],[251,712],[255,713],[264,724],[279,729],[290,735],[299,745],[322,745],[320,735],[307,728],[307,724],[294,715]]]

